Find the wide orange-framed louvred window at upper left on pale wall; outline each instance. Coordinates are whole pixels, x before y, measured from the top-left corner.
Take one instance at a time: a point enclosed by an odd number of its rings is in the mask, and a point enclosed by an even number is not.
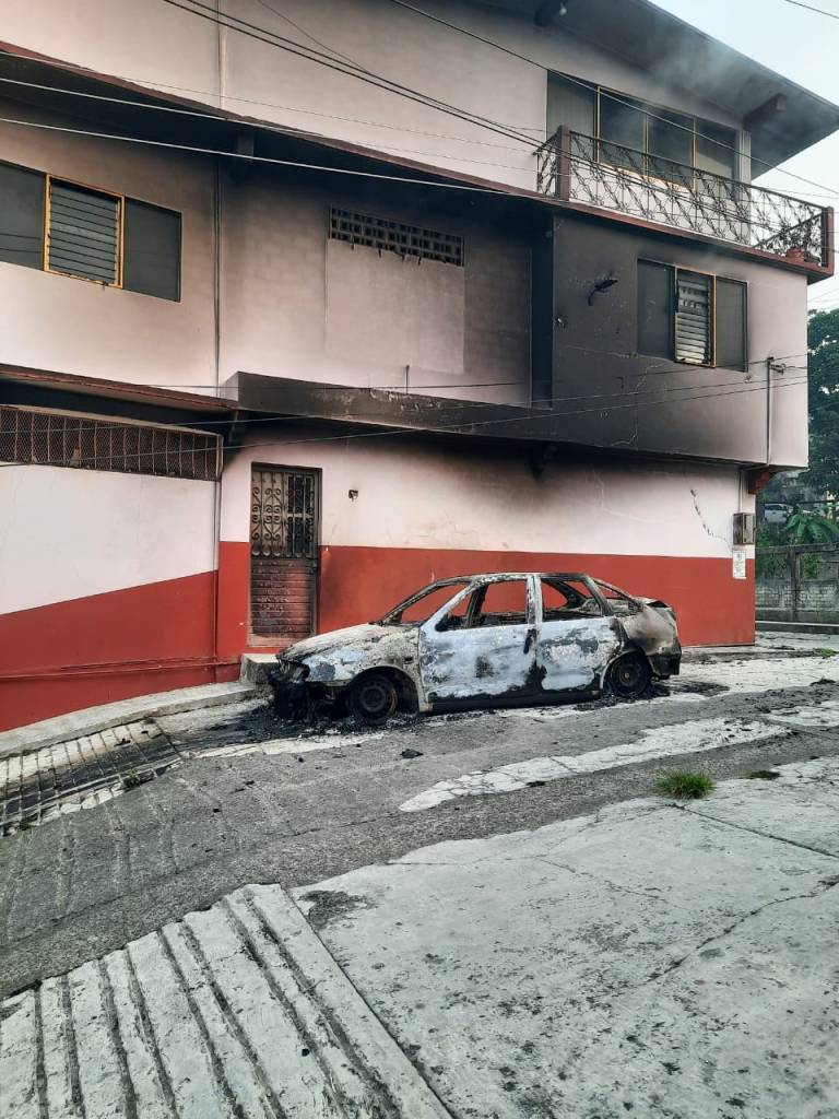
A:
[[[0,163],[0,261],[180,299],[181,217]]]

